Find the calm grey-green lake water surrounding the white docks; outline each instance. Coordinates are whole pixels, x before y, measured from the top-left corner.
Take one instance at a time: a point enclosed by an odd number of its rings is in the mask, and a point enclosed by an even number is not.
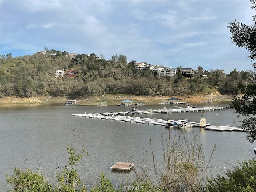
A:
[[[195,104],[194,104],[195,105]],[[181,105],[182,106],[182,105]],[[228,103],[198,103],[197,106],[228,106]],[[139,106],[143,109],[160,109],[161,105]],[[173,105],[166,106],[173,108]],[[183,106],[185,107],[185,106]],[[80,176],[90,188],[104,172],[112,182],[133,178],[133,172],[112,172],[115,162],[126,162],[127,158],[142,165],[143,150],[149,150],[150,139],[155,149],[158,165],[162,163],[161,135],[168,136],[169,130],[160,125],[136,124],[75,117],[72,114],[129,111],[122,106],[64,106],[64,104],[40,104],[31,106],[1,105],[1,191],[10,186],[6,183],[6,173],[11,175],[14,167],[32,168],[53,180],[56,172],[61,172],[66,164],[68,145],[76,148],[84,145],[89,156],[84,156],[77,168]],[[173,114],[136,114],[136,116],[170,120],[190,119],[199,122],[201,112]],[[203,114],[206,123],[212,125],[240,126],[242,118],[237,118],[230,109],[207,111]],[[204,148],[206,159],[216,145],[211,172],[221,174],[238,161],[256,157],[254,144],[246,140],[246,132],[218,132],[201,128],[170,130],[171,137],[186,136],[188,140],[196,136]],[[150,156],[150,154],[148,154]],[[25,161],[26,160],[26,161]],[[224,168],[226,167],[226,168]]]

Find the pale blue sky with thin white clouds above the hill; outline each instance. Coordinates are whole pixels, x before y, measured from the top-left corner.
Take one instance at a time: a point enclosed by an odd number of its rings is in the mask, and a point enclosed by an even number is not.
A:
[[[0,0],[0,54],[125,55],[171,68],[252,70],[229,22],[252,24],[249,0]]]

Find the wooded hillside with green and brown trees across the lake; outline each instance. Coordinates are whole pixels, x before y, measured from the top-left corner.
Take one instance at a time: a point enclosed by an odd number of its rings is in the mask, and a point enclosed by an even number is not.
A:
[[[127,62],[124,55],[113,55],[105,60],[95,54],[81,54],[74,58],[67,52],[50,50],[46,54],[33,54],[12,57],[1,56],[1,94],[5,96],[32,97],[47,96],[84,96],[102,94],[134,94],[144,96],[184,96],[197,93],[211,93],[218,90],[230,94],[236,86],[246,86],[252,79],[252,71],[230,74],[224,70],[204,71],[198,66],[194,78],[187,79],[179,73],[174,77],[159,77],[150,70],[135,70],[136,61]],[[55,78],[56,70],[67,72],[78,70],[74,78],[64,75]],[[207,77],[202,77],[202,74]]]

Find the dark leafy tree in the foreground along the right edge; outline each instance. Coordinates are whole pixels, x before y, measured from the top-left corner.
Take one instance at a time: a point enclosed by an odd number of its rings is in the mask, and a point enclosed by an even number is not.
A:
[[[250,0],[252,2],[252,9],[256,9],[256,0]],[[246,48],[250,55],[248,56],[252,61],[256,59],[256,15],[252,17],[253,24],[246,25],[232,20],[228,29],[231,34],[232,43],[240,48]],[[256,63],[252,66],[256,70]],[[241,87],[237,87],[236,92],[233,95],[233,102],[231,107],[235,109],[237,113],[245,116],[245,120],[242,122],[241,127],[250,132],[247,139],[254,143],[256,141],[256,84],[246,84],[246,87],[242,87],[244,96],[240,97]]]

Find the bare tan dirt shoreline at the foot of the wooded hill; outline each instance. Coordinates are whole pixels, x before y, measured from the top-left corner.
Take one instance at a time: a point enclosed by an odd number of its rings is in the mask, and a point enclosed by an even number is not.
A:
[[[145,104],[158,104],[163,100],[176,97],[182,99],[182,102],[186,103],[198,103],[198,102],[227,102],[232,101],[230,95],[220,94],[196,94],[190,96],[135,96],[135,95],[102,95],[102,96],[81,96],[78,98],[68,97],[51,97],[51,96],[36,96],[33,98],[19,98],[10,96],[1,96],[0,104],[42,104],[42,103],[65,103],[66,100],[76,100],[82,105],[97,105],[104,101],[107,105],[117,105],[122,100],[132,100],[134,103],[143,102]]]

